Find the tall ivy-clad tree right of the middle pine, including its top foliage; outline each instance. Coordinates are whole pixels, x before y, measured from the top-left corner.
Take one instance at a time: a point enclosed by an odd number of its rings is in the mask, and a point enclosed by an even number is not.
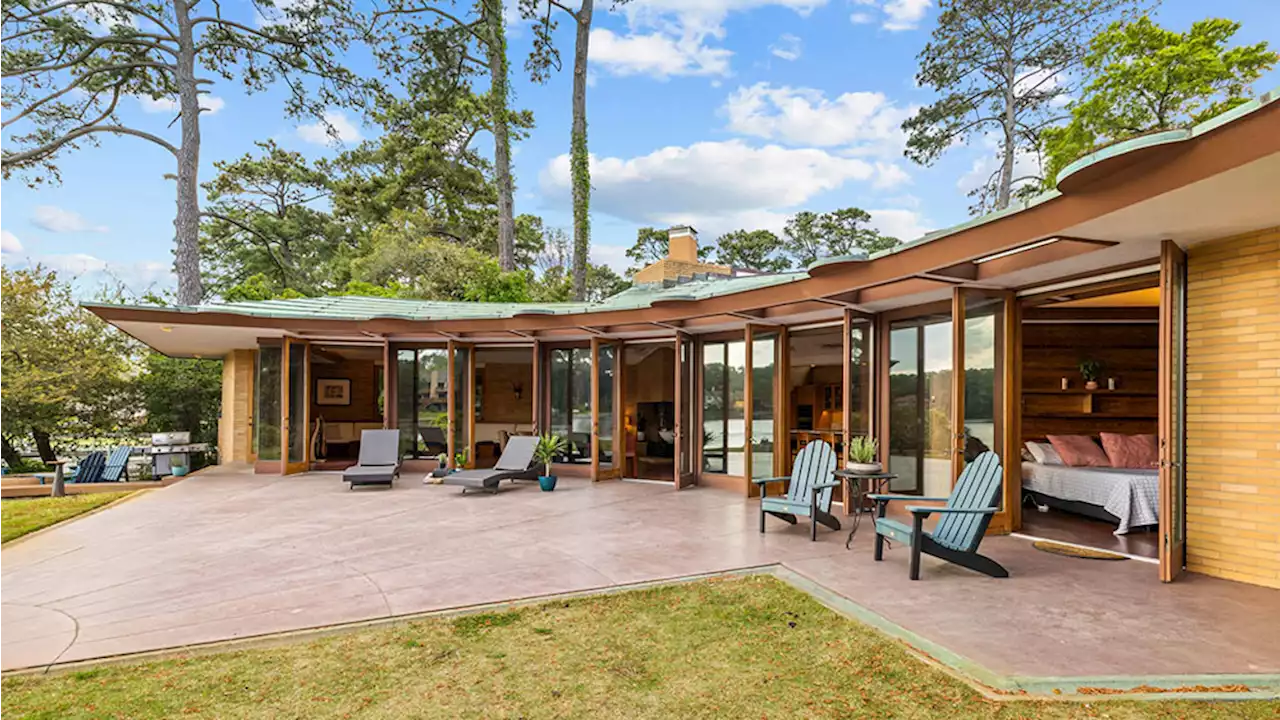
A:
[[[613,9],[631,0],[614,0]],[[559,51],[552,41],[556,29],[553,9],[573,20],[573,126],[570,131],[570,182],[573,186],[573,299],[585,300],[588,255],[591,250],[591,154],[586,142],[586,70],[591,45],[595,0],[579,0],[577,9],[561,0],[520,0],[521,14],[534,22],[534,49],[525,67],[534,81],[547,79],[550,68],[559,69]]]

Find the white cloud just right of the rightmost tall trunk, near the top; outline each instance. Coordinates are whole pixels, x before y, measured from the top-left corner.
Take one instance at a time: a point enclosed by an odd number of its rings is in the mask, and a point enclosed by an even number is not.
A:
[[[616,76],[727,76],[731,50],[704,45],[705,36],[591,31],[591,63]]]

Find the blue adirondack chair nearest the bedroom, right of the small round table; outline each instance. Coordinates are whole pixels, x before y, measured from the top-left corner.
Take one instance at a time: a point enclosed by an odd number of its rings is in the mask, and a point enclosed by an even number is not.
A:
[[[983,452],[973,462],[965,465],[960,479],[956,480],[951,497],[919,497],[914,495],[870,495],[876,502],[876,560],[884,559],[884,541],[892,539],[911,547],[913,580],[920,579],[920,553],[927,552],[934,557],[963,565],[970,570],[991,575],[992,578],[1007,578],[1005,570],[995,560],[978,555],[978,544],[982,536],[991,524],[991,516],[996,514],[1000,500],[1000,457],[995,452]],[[884,511],[892,501],[946,501],[945,507],[925,507],[922,505],[908,505],[911,514],[911,527],[886,518]],[[942,518],[932,533],[924,532],[924,519],[938,514]]]

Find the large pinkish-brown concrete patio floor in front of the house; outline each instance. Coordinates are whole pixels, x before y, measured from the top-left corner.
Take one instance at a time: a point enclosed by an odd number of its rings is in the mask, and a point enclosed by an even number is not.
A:
[[[508,486],[503,486],[508,488]],[[995,580],[846,533],[771,520],[731,492],[562,479],[462,496],[406,477],[219,470],[0,550],[0,670],[781,564],[992,673],[1280,673],[1280,593],[1156,568],[983,551]]]

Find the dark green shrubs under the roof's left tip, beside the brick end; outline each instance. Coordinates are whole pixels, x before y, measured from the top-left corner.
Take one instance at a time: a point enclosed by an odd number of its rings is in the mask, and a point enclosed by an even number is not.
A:
[[[221,407],[220,360],[168,357],[148,352],[134,380],[148,432],[191,430],[192,442],[218,442]]]

